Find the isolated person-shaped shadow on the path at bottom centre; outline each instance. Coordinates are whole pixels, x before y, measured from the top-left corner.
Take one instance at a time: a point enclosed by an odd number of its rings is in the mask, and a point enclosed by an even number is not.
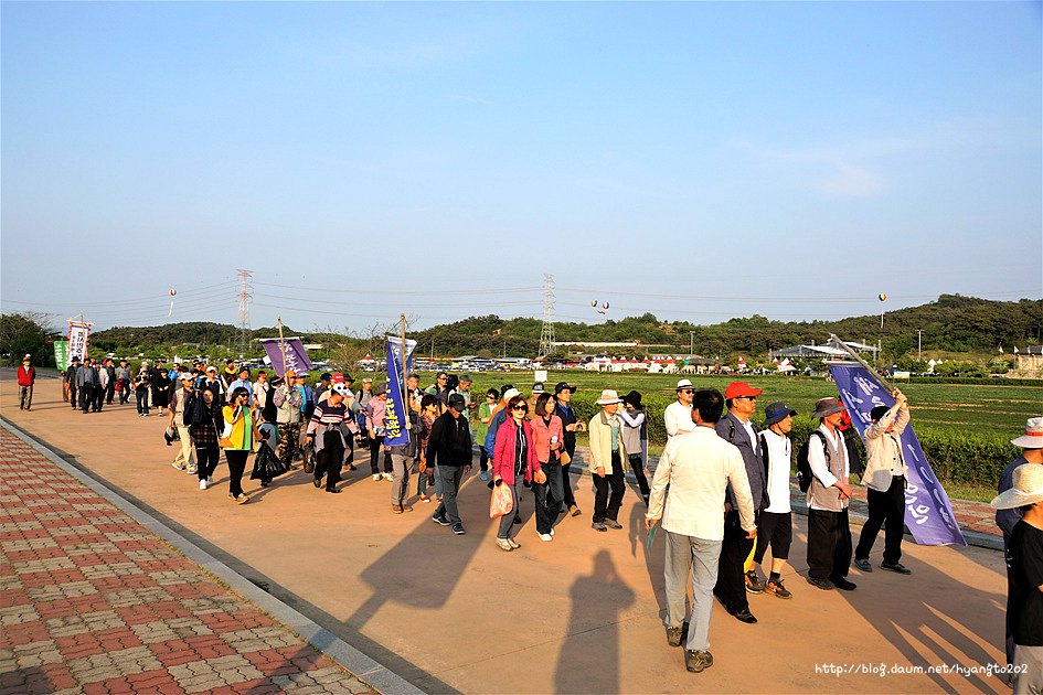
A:
[[[608,550],[594,556],[594,569],[568,590],[572,612],[554,674],[555,693],[619,692],[619,614],[634,591],[616,573]]]

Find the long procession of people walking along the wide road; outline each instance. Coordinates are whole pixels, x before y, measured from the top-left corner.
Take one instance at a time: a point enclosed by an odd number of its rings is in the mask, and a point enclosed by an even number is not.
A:
[[[25,365],[28,367],[28,363]],[[31,367],[28,367],[31,368]],[[24,375],[28,379],[28,373]],[[23,374],[19,373],[22,384]],[[415,374],[406,378],[404,399],[408,421],[404,440],[385,443],[390,417],[383,383],[324,373],[318,384],[292,371],[270,381],[265,372],[228,363],[194,364],[170,370],[142,365],[137,374],[126,362],[74,363],[65,374],[67,400],[83,413],[99,411],[118,394],[127,403],[136,395],[140,415],[158,408],[169,417],[168,443],[178,442],[173,467],[199,479],[201,490],[213,483],[223,450],[228,467],[228,498],[249,501],[242,488],[247,457],[257,450],[253,478],[269,485],[283,472],[298,468],[312,474],[316,488],[339,493],[343,469],[354,470],[354,452],[369,453],[374,481],[392,483],[391,512],[414,510],[414,502],[434,503],[432,521],[466,533],[457,498],[471,471],[479,447],[480,479],[493,496],[501,495],[497,546],[512,552],[521,525],[523,489],[532,490],[536,537],[554,539],[565,516],[579,516],[570,474],[576,434],[588,432],[587,467],[595,488],[592,528],[621,530],[618,514],[627,470],[647,505],[646,528],[664,535],[667,643],[684,646],[684,664],[701,672],[713,664],[709,630],[714,597],[728,614],[756,623],[749,597],[759,594],[791,599],[783,580],[792,543],[790,472],[794,442],[789,435],[797,411],[783,402],[764,408],[763,429],[753,421],[763,391],[733,382],[724,394],[696,389],[684,378],[677,400],[667,407],[668,441],[648,481],[648,423],[641,394],[624,397],[606,389],[588,421],[581,421],[571,400],[576,387],[533,384],[529,395],[511,384],[472,399],[471,378],[439,373],[422,389]],[[25,400],[24,391],[22,392]],[[78,399],[77,399],[78,395]],[[870,554],[881,528],[884,553],[880,568],[909,575],[902,563],[907,468],[901,435],[908,426],[909,404],[898,389],[894,405],[877,406],[863,432],[865,459],[855,446],[858,434],[844,405],[836,397],[816,402],[811,417],[819,427],[797,452],[798,470],[806,464],[808,501],[807,581],[820,590],[853,591],[852,564],[873,571]],[[31,385],[28,394],[31,402]],[[473,418],[472,418],[473,415]],[[993,500],[1003,531],[1009,565],[1008,663],[1026,665],[1011,674],[1018,693],[1039,693],[1043,681],[1043,418],[1029,420],[1012,442],[1024,453],[1008,467]],[[360,462],[361,463],[361,462]],[[416,477],[415,488],[409,482]],[[800,473],[798,473],[798,477]],[[851,475],[866,487],[869,518],[859,543],[852,541],[848,517],[853,495]],[[324,482],[323,482],[324,481]],[[432,490],[432,487],[434,488]],[[805,489],[805,483],[801,483]],[[762,569],[767,550],[770,570]],[[688,603],[691,581],[691,607]],[[1015,670],[1017,671],[1017,670]]]

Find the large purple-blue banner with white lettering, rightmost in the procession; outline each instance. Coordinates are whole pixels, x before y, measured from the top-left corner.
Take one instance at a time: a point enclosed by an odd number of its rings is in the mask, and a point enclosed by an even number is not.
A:
[[[830,362],[829,371],[837,381],[840,399],[848,407],[851,421],[864,441],[865,428],[873,424],[870,411],[881,405],[890,408],[895,403],[894,398],[869,370],[858,362]],[[920,545],[967,545],[952,515],[949,498],[930,470],[912,423],[902,432],[901,439],[902,453],[908,470],[905,525]]]

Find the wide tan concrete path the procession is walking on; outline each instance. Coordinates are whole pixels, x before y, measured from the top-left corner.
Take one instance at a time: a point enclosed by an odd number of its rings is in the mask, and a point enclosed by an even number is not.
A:
[[[32,413],[14,393],[0,381],[0,414],[18,427],[426,692],[1007,692],[990,672],[1002,661],[1005,602],[993,550],[906,543],[911,577],[852,570],[856,591],[824,592],[803,580],[798,516],[785,576],[795,598],[751,597],[756,626],[717,607],[714,665],[695,675],[666,644],[662,542],[646,549],[636,493],[624,531],[600,534],[589,527],[589,478],[574,480],[584,515],[565,518],[552,543],[536,537],[526,494],[522,548],[503,553],[473,475],[461,493],[465,536],[432,523],[430,505],[393,515],[390,483],[368,470],[348,474],[339,495],[301,472],[249,484],[241,506],[225,499],[223,464],[207,491],[170,467],[160,418],[130,406],[74,413],[56,382],[38,386]]]

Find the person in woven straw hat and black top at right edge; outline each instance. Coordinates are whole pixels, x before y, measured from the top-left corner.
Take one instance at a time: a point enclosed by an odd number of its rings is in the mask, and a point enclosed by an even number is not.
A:
[[[1043,692],[1043,464],[1023,463],[1011,480],[1011,488],[991,502],[996,510],[1021,511],[1007,548],[1007,624],[1014,639],[1009,663],[1017,670],[1011,674],[1014,694],[1039,694]]]

